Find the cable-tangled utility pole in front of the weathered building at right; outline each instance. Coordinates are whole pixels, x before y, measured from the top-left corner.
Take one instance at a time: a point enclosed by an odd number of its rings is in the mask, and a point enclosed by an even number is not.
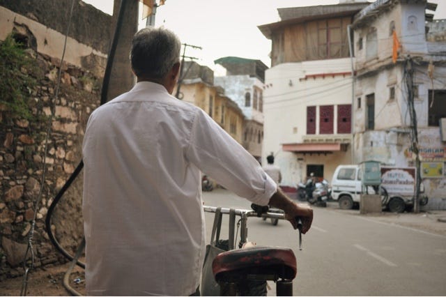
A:
[[[418,127],[417,127],[417,112],[415,111],[415,92],[413,86],[413,73],[414,73],[414,65],[413,59],[408,56],[406,58],[406,64],[404,66],[404,74],[406,77],[406,87],[408,92],[408,109],[410,115],[410,126],[412,128],[412,132],[410,133],[410,141],[411,150],[415,153],[415,167],[416,167],[416,178],[415,178],[415,197],[413,201],[413,212],[420,212],[420,184],[421,184],[421,162],[420,162],[420,151],[418,148]]]

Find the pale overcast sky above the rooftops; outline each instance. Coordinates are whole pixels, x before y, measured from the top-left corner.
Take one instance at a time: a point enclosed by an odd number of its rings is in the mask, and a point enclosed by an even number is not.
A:
[[[83,1],[105,13],[113,12],[112,0]],[[446,0],[429,2],[438,3],[434,19],[446,19]],[[201,50],[187,47],[185,56],[197,58],[194,61],[213,69],[217,75],[222,68],[214,61],[224,56],[258,59],[270,66],[271,40],[257,26],[278,22],[277,8],[337,3],[339,0],[166,0],[156,10],[155,26],[171,29],[182,43],[201,47]],[[145,23],[140,20],[139,27]]]

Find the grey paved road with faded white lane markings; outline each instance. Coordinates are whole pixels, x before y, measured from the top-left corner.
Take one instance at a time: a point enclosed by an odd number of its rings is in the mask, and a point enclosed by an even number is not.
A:
[[[211,206],[250,205],[221,189],[203,197]],[[208,238],[212,220],[206,214]],[[272,226],[249,218],[248,227],[249,240],[258,245],[293,248],[298,259],[296,296],[446,296],[446,236],[332,208],[314,208],[302,251],[289,222]]]

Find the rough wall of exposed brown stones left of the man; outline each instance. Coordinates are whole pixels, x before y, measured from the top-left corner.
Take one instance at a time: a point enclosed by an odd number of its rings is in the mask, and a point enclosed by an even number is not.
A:
[[[86,121],[100,102],[100,79],[66,63],[62,66],[59,96],[55,98],[60,60],[29,52],[42,73],[38,85],[29,90],[34,120],[15,119],[4,105],[0,106],[0,281],[24,273],[21,262],[36,206],[34,266],[65,261],[49,242],[45,216],[54,197],[82,160]],[[42,184],[49,119],[52,119],[51,132]],[[83,236],[81,201],[82,176],[78,176],[52,219],[56,238],[72,253]]]

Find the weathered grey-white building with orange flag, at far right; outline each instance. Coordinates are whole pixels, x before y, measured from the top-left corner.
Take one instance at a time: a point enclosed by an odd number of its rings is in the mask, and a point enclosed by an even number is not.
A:
[[[383,0],[355,15],[353,162],[415,167],[446,208],[446,30],[426,1]],[[427,10],[427,11],[426,11]]]

